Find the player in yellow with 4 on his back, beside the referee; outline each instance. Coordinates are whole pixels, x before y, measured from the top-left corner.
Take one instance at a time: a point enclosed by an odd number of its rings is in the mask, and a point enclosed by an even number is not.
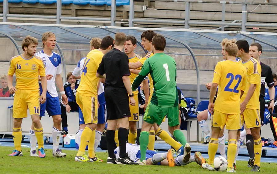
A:
[[[94,153],[94,129],[98,122],[98,88],[100,83],[99,78],[96,77],[96,70],[102,61],[103,55],[112,50],[113,41],[113,39],[110,39],[110,36],[104,37],[101,41],[100,48],[91,50],[84,60],[81,74],[82,80],[77,89],[76,102],[82,110],[86,127],[81,135],[81,142],[75,161],[98,161]],[[91,147],[89,149],[89,156],[85,154],[87,145]]]

